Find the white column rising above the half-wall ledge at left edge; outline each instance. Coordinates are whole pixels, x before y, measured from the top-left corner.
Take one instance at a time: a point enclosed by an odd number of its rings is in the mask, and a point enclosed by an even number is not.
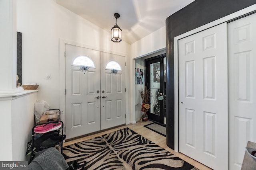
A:
[[[0,1],[0,94],[16,88],[16,0]]]

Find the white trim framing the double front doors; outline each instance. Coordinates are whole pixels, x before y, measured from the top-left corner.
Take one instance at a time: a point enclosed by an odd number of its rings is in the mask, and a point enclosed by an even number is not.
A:
[[[75,45],[75,46],[79,46],[79,47],[84,47],[87,49],[93,49],[96,51],[100,51],[100,52],[105,52],[105,53],[111,53],[111,54],[115,54],[115,55],[121,55],[125,57],[125,62],[126,62],[126,66],[125,66],[125,82],[128,82],[128,55],[125,53],[120,53],[120,52],[116,52],[116,51],[112,51],[112,50],[108,50],[108,49],[102,49],[100,47],[93,47],[90,45],[86,45],[86,44],[82,44],[82,43],[78,43],[75,41],[70,41],[67,39],[62,39],[59,38],[59,96],[60,96],[60,110],[63,111],[63,114],[60,115],[61,120],[63,121],[64,125],[66,125],[66,103],[65,103],[65,45]],[[128,84],[128,83],[126,83]],[[128,89],[128,86],[125,85],[125,88]],[[125,113],[127,115],[128,112],[128,93],[125,94]],[[128,115],[126,117],[126,125],[130,124],[130,116]]]

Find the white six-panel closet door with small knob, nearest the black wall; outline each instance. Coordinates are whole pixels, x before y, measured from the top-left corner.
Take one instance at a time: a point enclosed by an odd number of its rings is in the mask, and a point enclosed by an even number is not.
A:
[[[178,41],[179,151],[228,169],[226,23]]]

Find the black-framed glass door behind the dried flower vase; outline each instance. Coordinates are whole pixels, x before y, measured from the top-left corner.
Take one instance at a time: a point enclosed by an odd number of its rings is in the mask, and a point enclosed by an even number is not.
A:
[[[146,59],[146,85],[150,88],[150,109],[148,119],[166,124],[166,55]]]

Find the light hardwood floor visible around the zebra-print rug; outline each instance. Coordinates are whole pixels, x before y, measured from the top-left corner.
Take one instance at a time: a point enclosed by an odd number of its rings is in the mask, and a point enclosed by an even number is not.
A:
[[[63,146],[65,147],[65,146],[71,145],[73,143],[78,143],[78,142],[86,141],[88,139],[91,139],[91,138],[94,138],[94,137],[98,137],[98,136],[104,135],[106,133],[110,133],[110,132],[117,131],[119,129],[123,129],[123,128],[128,127],[130,129],[132,129],[133,131],[135,131],[136,133],[142,135],[146,139],[156,143],[157,145],[159,145],[160,147],[168,150],[172,154],[175,154],[176,156],[180,157],[181,159],[185,160],[186,162],[192,164],[196,168],[198,168],[200,170],[212,170],[211,168],[208,168],[207,166],[201,164],[200,162],[197,162],[196,160],[193,160],[193,159],[189,158],[188,156],[186,156],[186,155],[184,155],[182,153],[175,152],[174,150],[172,150],[169,147],[167,147],[167,145],[166,145],[166,137],[164,137],[164,136],[162,136],[162,135],[160,135],[160,134],[158,134],[158,133],[156,133],[154,131],[151,131],[150,129],[144,127],[144,125],[147,125],[147,124],[150,124],[150,123],[152,123],[152,121],[137,122],[135,124],[124,125],[124,126],[121,126],[121,127],[117,127],[117,128],[114,128],[114,129],[110,129],[110,130],[107,130],[107,131],[96,133],[96,134],[93,134],[93,135],[88,135],[88,136],[85,136],[85,137],[81,137],[79,139],[74,139],[74,140],[71,140],[71,141],[67,141],[67,142],[63,143]]]

